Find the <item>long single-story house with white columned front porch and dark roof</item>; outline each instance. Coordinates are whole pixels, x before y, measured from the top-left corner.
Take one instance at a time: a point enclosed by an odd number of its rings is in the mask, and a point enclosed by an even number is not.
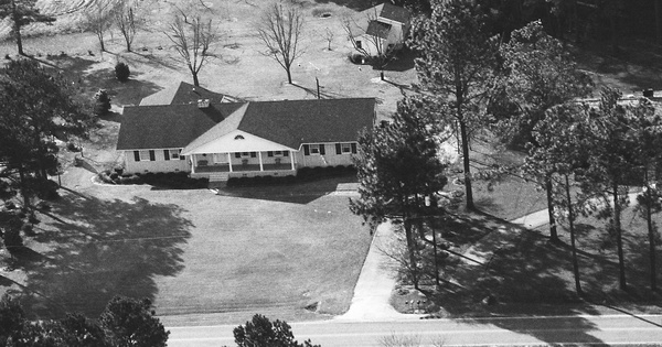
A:
[[[117,150],[126,173],[286,176],[351,165],[359,132],[374,121],[374,98],[125,107]]]

